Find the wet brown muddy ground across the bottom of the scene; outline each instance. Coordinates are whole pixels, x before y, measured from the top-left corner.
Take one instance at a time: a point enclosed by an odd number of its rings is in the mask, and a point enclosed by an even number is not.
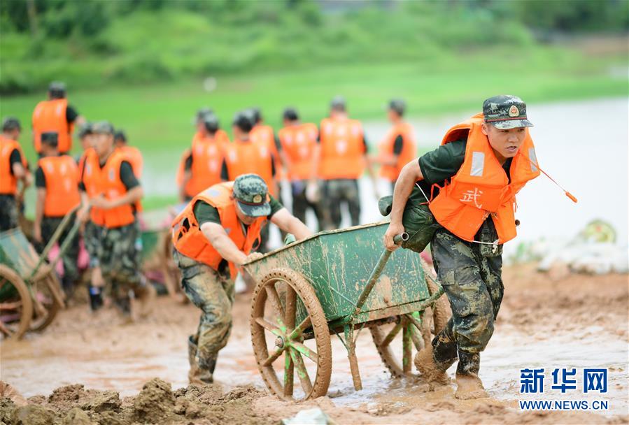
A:
[[[1,343],[0,377],[22,394],[2,399],[6,424],[276,424],[319,407],[337,424],[628,423],[628,276],[550,275],[533,266],[504,272],[505,296],[482,356],[490,398],[458,401],[455,386],[427,391],[393,380],[365,333],[358,359],[365,389],[354,391],[344,347],[333,340],[328,396],[287,403],[267,393],[253,359],[249,298],[234,305],[234,329],[220,354],[215,387],[187,387],[186,336],[198,312],[160,298],[150,317],[123,324],[113,310],[66,310],[48,329]],[[520,368],[609,368],[606,394],[519,394]],[[448,371],[454,374],[454,368]],[[547,379],[550,379],[550,373]],[[549,383],[546,384],[549,386]],[[608,410],[521,412],[518,400],[605,400]]]

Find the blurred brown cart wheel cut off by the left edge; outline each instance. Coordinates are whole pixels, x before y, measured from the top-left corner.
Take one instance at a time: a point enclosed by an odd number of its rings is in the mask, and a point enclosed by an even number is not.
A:
[[[15,271],[0,264],[0,333],[3,338],[22,338],[33,315],[31,294]]]

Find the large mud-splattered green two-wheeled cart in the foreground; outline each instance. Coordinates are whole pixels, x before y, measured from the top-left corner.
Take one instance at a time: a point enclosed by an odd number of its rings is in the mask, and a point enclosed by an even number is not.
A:
[[[253,352],[271,393],[325,396],[332,335],[346,347],[354,387],[362,389],[355,343],[365,328],[394,377],[414,376],[414,352],[445,326],[450,308],[419,254],[383,251],[387,227],[320,232],[244,264],[256,282]]]

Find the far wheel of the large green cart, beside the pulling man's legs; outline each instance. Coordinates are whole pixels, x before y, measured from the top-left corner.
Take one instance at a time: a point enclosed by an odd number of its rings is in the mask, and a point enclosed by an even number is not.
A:
[[[426,279],[430,295],[437,292],[437,285],[430,279]],[[415,377],[413,359],[415,352],[421,350],[426,344],[430,344],[432,336],[437,334],[448,322],[450,308],[445,296],[440,296],[434,302],[433,308],[426,308],[423,318],[419,312],[411,316],[396,316],[390,324],[372,326],[372,338],[376,349],[385,366],[394,377]],[[417,326],[420,319],[421,326]]]

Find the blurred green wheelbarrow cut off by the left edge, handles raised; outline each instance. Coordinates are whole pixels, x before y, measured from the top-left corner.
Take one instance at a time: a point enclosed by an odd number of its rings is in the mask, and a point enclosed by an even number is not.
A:
[[[3,338],[17,339],[27,331],[41,331],[64,307],[64,293],[55,266],[78,231],[78,222],[61,243],[59,255],[50,264],[46,258],[77,209],[64,217],[41,255],[20,228],[0,232],[0,334]]]

